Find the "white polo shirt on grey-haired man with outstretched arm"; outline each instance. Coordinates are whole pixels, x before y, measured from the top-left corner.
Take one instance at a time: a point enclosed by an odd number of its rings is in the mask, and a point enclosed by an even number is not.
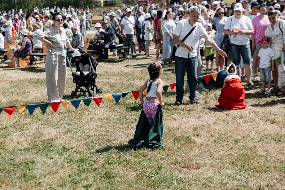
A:
[[[190,32],[190,30],[194,27],[193,32],[188,36],[188,38],[183,42],[189,45],[192,45],[194,51],[190,51],[190,57],[197,56],[196,50],[199,46],[200,36],[207,34],[206,29],[202,26],[201,23],[196,22],[193,26],[189,24],[188,19],[183,19],[178,22],[176,28],[174,30],[174,34],[179,36],[178,39],[182,41],[182,39]],[[188,58],[189,50],[187,48],[179,46],[176,50],[175,55],[178,57]]]

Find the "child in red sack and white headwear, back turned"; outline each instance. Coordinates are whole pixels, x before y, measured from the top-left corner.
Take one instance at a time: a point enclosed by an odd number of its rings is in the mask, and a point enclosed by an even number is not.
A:
[[[241,83],[239,75],[236,73],[235,64],[227,67],[228,76],[224,80],[224,86],[221,89],[221,95],[218,99],[219,105],[215,105],[219,109],[244,109],[245,91]]]

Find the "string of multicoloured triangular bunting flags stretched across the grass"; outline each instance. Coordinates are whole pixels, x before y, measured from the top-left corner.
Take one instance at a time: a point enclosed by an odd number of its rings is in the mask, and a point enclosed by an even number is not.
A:
[[[204,81],[206,82],[206,84],[209,83],[210,78],[212,77],[214,81],[217,80],[217,75],[221,75],[221,76],[225,76],[226,75],[226,69],[215,72],[215,73],[210,73],[210,74],[206,74],[206,75],[202,75],[197,77],[198,79],[198,84],[200,84],[202,82],[202,80],[204,79]],[[184,80],[184,83],[188,80]],[[176,82],[173,83],[169,83],[163,86],[163,91],[167,92],[167,90],[169,89],[169,86],[171,88],[171,91],[173,91],[173,89],[176,86]],[[112,97],[115,99],[116,103],[118,103],[122,98],[125,98],[127,94],[132,93],[132,95],[134,96],[134,99],[137,100],[138,99],[138,92],[139,90],[134,90],[134,91],[128,91],[128,92],[122,92],[122,93],[117,93],[117,94],[108,94],[108,95],[104,95],[104,96],[97,96],[97,97],[92,97],[92,98],[81,98],[81,99],[73,99],[73,100],[66,100],[66,101],[62,101],[62,102],[48,102],[48,103],[39,103],[39,104],[26,104],[26,105],[15,105],[15,106],[4,106],[4,107],[0,107],[0,113],[2,111],[5,111],[7,113],[7,115],[9,116],[9,118],[11,118],[12,114],[15,111],[15,108],[18,109],[20,115],[23,114],[25,108],[28,109],[28,112],[30,115],[33,114],[33,112],[35,111],[35,109],[37,108],[37,106],[41,109],[42,114],[44,115],[46,113],[46,109],[48,108],[48,106],[50,105],[50,107],[52,108],[52,110],[54,111],[54,113],[57,112],[60,103],[63,105],[64,109],[66,109],[67,105],[69,103],[71,103],[73,105],[73,107],[75,109],[77,109],[81,103],[81,100],[83,101],[83,103],[86,106],[89,106],[91,104],[92,99],[94,100],[94,102],[97,104],[97,106],[99,107],[101,104],[101,101],[103,99],[103,97],[105,97],[110,103],[112,102]],[[145,95],[147,95],[147,89],[143,91]]]

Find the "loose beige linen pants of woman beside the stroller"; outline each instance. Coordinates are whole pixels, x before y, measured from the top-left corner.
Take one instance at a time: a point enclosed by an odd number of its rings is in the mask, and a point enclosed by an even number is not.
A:
[[[46,53],[46,90],[49,102],[59,102],[64,95],[66,57]]]

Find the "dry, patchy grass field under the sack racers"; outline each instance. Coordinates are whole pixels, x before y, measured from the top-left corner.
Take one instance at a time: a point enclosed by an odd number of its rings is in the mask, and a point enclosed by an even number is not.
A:
[[[154,60],[99,63],[103,95],[139,89]],[[175,82],[174,65],[163,68],[165,84]],[[44,69],[1,65],[0,76],[1,106],[48,101]],[[64,99],[74,89],[68,68]],[[169,88],[164,147],[155,150],[128,146],[142,109],[131,94],[99,107],[81,102],[54,113],[49,106],[44,115],[38,107],[31,116],[15,109],[11,119],[2,112],[0,189],[285,189],[285,99],[245,90],[246,109],[218,110],[221,89],[200,93],[197,105],[185,95],[177,107]]]

